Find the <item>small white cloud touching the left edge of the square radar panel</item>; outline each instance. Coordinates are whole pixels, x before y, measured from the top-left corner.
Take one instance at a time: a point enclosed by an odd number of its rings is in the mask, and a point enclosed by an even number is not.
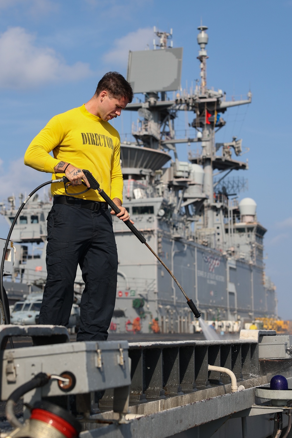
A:
[[[122,38],[115,39],[113,49],[104,56],[103,60],[107,64],[127,66],[129,50],[144,50],[147,44],[152,48],[153,28],[138,29],[130,32]]]

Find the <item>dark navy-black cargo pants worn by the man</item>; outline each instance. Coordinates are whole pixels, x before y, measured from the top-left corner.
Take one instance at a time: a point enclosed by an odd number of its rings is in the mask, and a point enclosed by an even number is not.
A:
[[[39,324],[68,325],[77,265],[85,283],[77,341],[106,340],[116,299],[117,251],[112,217],[99,211],[54,204],[49,212],[47,279]]]

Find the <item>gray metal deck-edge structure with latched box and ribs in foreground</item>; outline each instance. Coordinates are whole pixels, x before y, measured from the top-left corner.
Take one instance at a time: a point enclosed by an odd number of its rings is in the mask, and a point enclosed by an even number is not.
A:
[[[3,350],[10,336],[31,337],[33,346]],[[64,403],[64,396],[76,396],[82,438],[208,438],[228,421],[237,421],[243,436],[266,438],[271,415],[289,410],[256,397],[256,388],[268,387],[279,372],[292,387],[292,336],[273,331],[242,330],[237,340],[70,343],[64,327],[5,325],[0,346],[2,401],[39,372],[74,374],[69,392],[51,380],[28,392],[24,402],[56,403],[61,396]],[[209,365],[231,370],[239,390],[232,392],[229,375],[209,371]],[[103,390],[97,413],[94,394]]]

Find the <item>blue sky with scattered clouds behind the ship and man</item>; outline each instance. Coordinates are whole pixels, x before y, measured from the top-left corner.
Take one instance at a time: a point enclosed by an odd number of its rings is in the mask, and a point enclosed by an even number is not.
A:
[[[247,172],[265,238],[267,275],[277,286],[282,318],[291,305],[291,18],[292,1],[222,0],[0,0],[0,198],[29,192],[49,176],[23,165],[32,138],[57,113],[80,106],[94,94],[102,74],[126,74],[130,50],[151,46],[153,26],[173,28],[173,45],[183,46],[182,88],[199,76],[197,26],[209,27],[208,86],[253,102],[224,114],[217,141],[243,138],[250,152]],[[152,46],[151,46],[152,47]],[[124,113],[115,127],[129,138]],[[188,113],[176,127],[184,135]],[[189,130],[190,136],[194,132]],[[179,146],[186,159],[186,146]],[[232,174],[231,174],[232,175]],[[7,226],[0,218],[1,236]]]

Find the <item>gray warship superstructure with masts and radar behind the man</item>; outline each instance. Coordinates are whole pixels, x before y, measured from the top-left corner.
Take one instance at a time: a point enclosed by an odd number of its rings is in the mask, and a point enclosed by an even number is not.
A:
[[[200,81],[190,90],[180,89],[183,49],[169,46],[172,32],[155,29],[160,42],[154,50],[129,53],[127,80],[143,99],[137,97],[126,108],[137,112],[138,119],[132,124],[135,141],[121,143],[123,205],[205,321],[221,321],[221,326],[238,331],[256,318],[277,318],[277,297],[265,275],[267,230],[257,219],[256,202],[239,202],[245,183],[227,179],[232,171],[248,169],[248,162],[240,161],[242,140],[215,142],[215,133],[225,126],[225,111],[249,105],[252,96],[248,92],[246,99],[229,101],[222,90],[207,87],[207,29],[198,28]],[[192,138],[176,138],[174,123],[180,111],[194,114]],[[186,162],[178,159],[181,145],[188,145]],[[20,203],[22,199],[20,194]],[[45,282],[51,205],[50,196],[40,199],[36,194],[18,219],[12,234],[13,280],[5,285],[8,297],[18,283],[42,287]],[[8,204],[1,203],[8,224],[16,212],[14,196]],[[181,292],[153,254],[116,217],[113,230],[119,265],[110,331],[196,330]],[[81,294],[82,288],[78,270],[75,292]]]

